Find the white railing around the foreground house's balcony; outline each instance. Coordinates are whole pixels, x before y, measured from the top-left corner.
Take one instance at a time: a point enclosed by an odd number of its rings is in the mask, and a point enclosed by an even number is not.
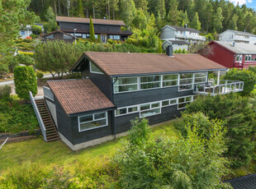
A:
[[[216,81],[208,81],[194,85],[194,94],[197,95],[225,95],[231,92],[236,93],[244,90],[244,81],[225,81],[220,80],[219,84]]]

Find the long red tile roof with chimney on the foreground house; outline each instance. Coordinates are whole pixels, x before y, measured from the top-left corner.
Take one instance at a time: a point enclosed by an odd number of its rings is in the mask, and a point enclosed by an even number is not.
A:
[[[69,70],[77,67],[84,56],[109,76],[226,69],[199,54],[174,54],[174,57],[169,57],[164,53],[87,52]]]

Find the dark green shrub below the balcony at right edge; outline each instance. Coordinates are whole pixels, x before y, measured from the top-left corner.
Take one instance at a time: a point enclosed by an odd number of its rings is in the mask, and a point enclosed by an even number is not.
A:
[[[233,160],[235,168],[249,163],[254,157],[256,113],[249,99],[235,94],[197,98],[184,113],[201,112],[210,119],[221,119],[227,130],[226,157]]]

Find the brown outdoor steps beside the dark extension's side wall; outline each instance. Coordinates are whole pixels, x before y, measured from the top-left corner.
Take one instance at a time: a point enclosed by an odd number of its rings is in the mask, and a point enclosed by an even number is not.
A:
[[[46,141],[56,141],[59,140],[59,134],[55,127],[55,122],[51,118],[49,109],[45,104],[45,99],[37,99],[35,100],[36,107],[40,113],[41,120],[45,125],[45,134],[46,134]]]

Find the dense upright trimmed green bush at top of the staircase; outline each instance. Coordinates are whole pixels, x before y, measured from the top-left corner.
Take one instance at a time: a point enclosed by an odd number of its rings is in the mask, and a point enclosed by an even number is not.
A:
[[[30,99],[29,91],[32,95],[37,94],[36,72],[32,67],[14,68],[15,91],[20,99]]]

